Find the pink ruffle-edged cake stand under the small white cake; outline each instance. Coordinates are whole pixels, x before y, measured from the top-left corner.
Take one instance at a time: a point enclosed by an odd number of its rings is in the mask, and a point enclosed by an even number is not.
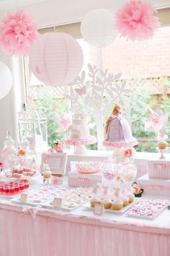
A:
[[[75,150],[74,150],[74,154],[85,154],[87,152],[85,145],[90,145],[90,144],[94,144],[97,142],[97,138],[94,136],[90,136],[87,139],[77,139],[77,140],[73,140],[73,139],[67,139],[65,140],[66,145],[74,145],[75,146]]]

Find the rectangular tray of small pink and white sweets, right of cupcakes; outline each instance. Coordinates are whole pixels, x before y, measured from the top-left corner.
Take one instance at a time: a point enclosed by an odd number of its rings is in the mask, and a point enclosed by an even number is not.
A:
[[[143,199],[133,205],[133,208],[128,212],[128,216],[148,219],[156,218],[158,214],[167,208],[169,203],[169,200]]]

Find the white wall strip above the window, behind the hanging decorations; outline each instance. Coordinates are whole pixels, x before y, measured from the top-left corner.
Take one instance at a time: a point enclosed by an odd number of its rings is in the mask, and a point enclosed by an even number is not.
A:
[[[84,14],[91,9],[105,8],[113,12],[128,0],[49,0],[39,4],[30,4],[22,7],[37,20],[40,27],[53,24],[61,24],[81,20]],[[170,5],[169,0],[148,0],[156,7],[164,7]],[[16,11],[19,9],[19,0],[15,1]],[[0,6],[1,7],[1,6]],[[5,12],[1,12],[0,18]]]

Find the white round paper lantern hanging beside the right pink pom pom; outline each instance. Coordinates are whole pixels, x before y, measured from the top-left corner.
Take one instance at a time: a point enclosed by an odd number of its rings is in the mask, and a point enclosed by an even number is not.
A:
[[[91,46],[108,46],[118,35],[114,14],[107,9],[88,12],[81,22],[81,35]]]

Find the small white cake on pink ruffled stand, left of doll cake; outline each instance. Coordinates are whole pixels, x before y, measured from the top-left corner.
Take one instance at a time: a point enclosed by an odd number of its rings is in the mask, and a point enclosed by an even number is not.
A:
[[[85,140],[89,138],[89,128],[86,116],[74,114],[70,127],[72,140]]]

